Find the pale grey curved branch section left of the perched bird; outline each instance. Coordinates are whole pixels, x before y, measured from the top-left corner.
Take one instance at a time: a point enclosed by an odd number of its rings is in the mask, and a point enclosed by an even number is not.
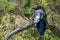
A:
[[[8,36],[6,36],[6,37],[4,38],[4,40],[8,40],[8,39],[9,39],[11,36],[13,36],[14,34],[20,32],[20,31],[23,31],[23,30],[25,30],[25,29],[29,29],[29,28],[33,27],[33,25],[34,25],[34,23],[32,23],[32,24],[30,24],[30,25],[28,25],[28,26],[26,26],[26,27],[21,27],[21,28],[17,28],[17,29],[15,29],[15,30],[13,30]]]

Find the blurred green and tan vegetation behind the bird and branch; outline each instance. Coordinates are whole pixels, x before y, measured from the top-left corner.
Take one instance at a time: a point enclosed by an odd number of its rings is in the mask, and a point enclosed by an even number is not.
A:
[[[33,7],[41,5],[45,8],[48,24],[60,29],[60,0],[0,0],[0,40],[3,40],[18,26],[26,26],[32,22]],[[10,40],[60,40],[51,30],[46,29],[41,38],[36,27],[24,30]]]

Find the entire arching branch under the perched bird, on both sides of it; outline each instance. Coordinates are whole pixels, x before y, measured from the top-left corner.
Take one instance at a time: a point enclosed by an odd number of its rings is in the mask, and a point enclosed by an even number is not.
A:
[[[30,25],[28,25],[28,26],[26,26],[26,27],[17,28],[17,29],[15,29],[14,31],[12,31],[8,36],[6,36],[6,37],[4,38],[4,40],[8,40],[8,39],[9,39],[11,36],[13,36],[14,34],[20,32],[20,31],[29,29],[29,28],[31,28],[31,27],[33,27],[33,26],[34,26],[34,23],[32,23],[32,24],[30,24]],[[55,26],[53,26],[53,25],[46,25],[46,29],[50,29],[56,36],[60,37],[60,30],[59,30],[57,27],[55,27]]]

